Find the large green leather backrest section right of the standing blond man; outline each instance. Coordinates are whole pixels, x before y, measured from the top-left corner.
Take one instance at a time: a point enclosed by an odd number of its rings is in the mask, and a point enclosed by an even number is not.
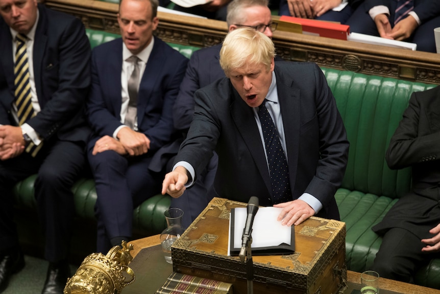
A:
[[[349,161],[341,188],[391,198],[403,196],[410,188],[411,170],[390,170],[385,152],[411,93],[435,85],[322,70],[350,142]]]

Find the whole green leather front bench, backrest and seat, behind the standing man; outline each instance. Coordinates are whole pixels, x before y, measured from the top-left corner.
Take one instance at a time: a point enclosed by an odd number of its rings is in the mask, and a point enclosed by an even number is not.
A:
[[[92,47],[109,41],[116,34],[87,30]],[[171,44],[189,57],[197,47]],[[390,170],[385,151],[410,94],[434,85],[392,78],[368,76],[348,71],[323,69],[336,98],[350,141],[349,162],[343,184],[335,197],[341,219],[347,225],[347,267],[362,272],[371,266],[381,238],[371,227],[410,188],[410,169]],[[18,183],[17,207],[35,208],[35,176]],[[94,219],[96,192],[92,179],[81,179],[73,188],[78,218]],[[133,227],[144,236],[158,234],[165,228],[163,212],[170,197],[156,195],[135,209]],[[417,273],[419,285],[440,289],[440,259],[435,259]]]

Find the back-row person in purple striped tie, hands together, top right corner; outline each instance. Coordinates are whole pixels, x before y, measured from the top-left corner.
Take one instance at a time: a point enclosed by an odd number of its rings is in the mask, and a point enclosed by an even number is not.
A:
[[[440,1],[365,0],[346,24],[350,32],[408,41],[417,44],[419,51],[435,53]]]

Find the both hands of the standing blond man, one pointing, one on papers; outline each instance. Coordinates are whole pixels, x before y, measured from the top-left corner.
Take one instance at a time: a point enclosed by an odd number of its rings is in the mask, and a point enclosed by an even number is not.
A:
[[[182,166],[176,167],[174,171],[165,175],[162,183],[162,195],[167,193],[173,198],[179,198],[185,191],[185,184],[187,182],[187,170]],[[277,219],[283,225],[298,225],[315,214],[315,211],[305,201],[300,199],[279,203],[274,205],[274,207],[283,209]]]

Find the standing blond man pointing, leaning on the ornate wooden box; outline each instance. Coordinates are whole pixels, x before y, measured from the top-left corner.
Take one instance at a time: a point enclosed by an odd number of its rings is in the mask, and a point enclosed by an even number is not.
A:
[[[274,62],[272,40],[253,28],[229,32],[226,77],[195,92],[194,117],[162,193],[180,197],[218,154],[215,195],[283,208],[278,220],[339,219],[334,193],[349,143],[324,74],[314,63]]]

